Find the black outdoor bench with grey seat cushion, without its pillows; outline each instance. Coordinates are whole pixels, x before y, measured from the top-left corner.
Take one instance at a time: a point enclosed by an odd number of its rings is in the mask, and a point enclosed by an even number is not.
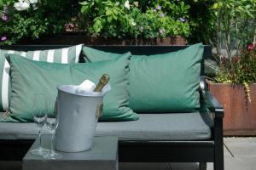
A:
[[[8,46],[15,50],[63,48],[67,46]],[[186,46],[91,46],[112,53],[164,54]],[[205,46],[203,59],[212,57]],[[224,169],[224,109],[207,89],[201,62],[201,111],[196,113],[139,114],[134,122],[98,122],[96,136],[119,137],[119,162],[213,162]],[[206,110],[207,109],[207,110]],[[4,113],[1,114],[3,116]],[[44,128],[43,133],[48,133]],[[21,161],[38,131],[34,123],[0,122],[0,160]]]

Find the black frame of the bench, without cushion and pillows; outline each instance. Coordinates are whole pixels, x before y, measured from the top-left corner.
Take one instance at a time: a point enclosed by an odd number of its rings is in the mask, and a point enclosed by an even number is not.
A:
[[[13,50],[64,48],[67,45],[0,46]],[[186,46],[90,46],[113,53],[164,54]],[[205,46],[203,58],[212,57],[212,48]],[[201,105],[206,105],[214,119],[212,138],[193,141],[119,141],[120,162],[213,162],[214,170],[224,170],[223,118],[224,109],[207,89],[204,65],[201,63]],[[20,161],[33,140],[0,139],[0,161]]]

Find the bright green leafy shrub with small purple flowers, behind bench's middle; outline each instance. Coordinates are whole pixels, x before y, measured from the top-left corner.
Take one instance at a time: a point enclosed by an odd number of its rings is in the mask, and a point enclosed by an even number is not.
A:
[[[84,28],[93,35],[106,37],[189,37],[189,22],[183,17],[167,14],[160,3],[148,3],[144,9],[137,1],[114,2],[111,0],[82,3]],[[184,5],[184,3],[182,3]],[[183,10],[187,10],[183,8]],[[185,14],[185,12],[184,12]],[[90,23],[92,26],[90,27]],[[89,26],[88,26],[89,24]]]

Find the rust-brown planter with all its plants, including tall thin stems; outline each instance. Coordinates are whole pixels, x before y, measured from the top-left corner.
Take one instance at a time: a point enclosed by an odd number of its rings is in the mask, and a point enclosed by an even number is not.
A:
[[[256,135],[255,8],[249,0],[212,5],[216,28],[212,46],[219,68],[210,90],[224,105],[225,135]]]

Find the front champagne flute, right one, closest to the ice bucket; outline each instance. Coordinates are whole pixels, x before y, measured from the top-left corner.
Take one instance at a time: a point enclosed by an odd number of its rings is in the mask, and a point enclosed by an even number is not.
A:
[[[59,159],[61,158],[61,154],[58,154],[54,150],[54,134],[55,130],[59,124],[59,115],[55,112],[54,115],[48,114],[46,119],[46,126],[49,128],[49,133],[51,134],[51,147],[50,150],[43,155],[44,159]]]

